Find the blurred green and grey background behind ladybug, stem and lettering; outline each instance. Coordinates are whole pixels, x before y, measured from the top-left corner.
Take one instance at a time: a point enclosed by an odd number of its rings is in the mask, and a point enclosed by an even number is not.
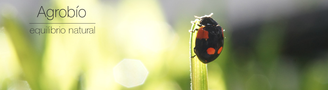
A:
[[[48,20],[36,17],[41,6],[79,6],[86,16]],[[0,89],[189,90],[190,21],[210,13],[226,37],[207,65],[210,90],[328,89],[324,0],[2,0]],[[46,26],[96,33],[29,31]],[[126,58],[147,68],[142,85],[115,82],[113,67]]]

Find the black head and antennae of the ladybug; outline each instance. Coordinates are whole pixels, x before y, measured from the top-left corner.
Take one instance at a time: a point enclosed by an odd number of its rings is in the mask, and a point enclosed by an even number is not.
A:
[[[211,13],[210,15],[205,15],[205,16],[202,16],[202,17],[198,17],[198,16],[195,16],[196,18],[200,18],[200,21],[199,21],[199,24],[200,25],[204,25],[204,26],[207,26],[207,25],[211,25],[211,26],[216,26],[218,25],[216,23],[216,21],[211,17],[213,15],[213,13]]]

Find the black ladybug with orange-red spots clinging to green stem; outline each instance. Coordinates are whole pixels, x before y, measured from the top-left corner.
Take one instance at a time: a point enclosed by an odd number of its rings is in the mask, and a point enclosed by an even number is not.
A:
[[[223,29],[211,15],[213,13],[202,17],[195,16],[200,18],[199,24],[192,21],[193,24],[199,26],[198,29],[195,29],[197,31],[194,48],[195,56],[205,64],[214,61],[221,54],[224,43]],[[192,56],[192,58],[195,56]]]

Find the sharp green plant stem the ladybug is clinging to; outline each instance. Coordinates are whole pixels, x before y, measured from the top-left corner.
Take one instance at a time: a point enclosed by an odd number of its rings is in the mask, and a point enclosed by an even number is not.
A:
[[[195,23],[199,23],[199,20],[196,19]],[[196,24],[193,24],[191,30],[195,28],[199,28]],[[194,47],[196,40],[196,33],[190,33],[190,57],[195,56]],[[208,90],[208,82],[207,82],[207,64],[201,62],[197,56],[194,58],[190,58],[190,77],[191,77],[191,89],[192,90]]]

